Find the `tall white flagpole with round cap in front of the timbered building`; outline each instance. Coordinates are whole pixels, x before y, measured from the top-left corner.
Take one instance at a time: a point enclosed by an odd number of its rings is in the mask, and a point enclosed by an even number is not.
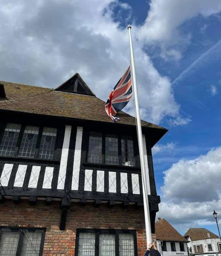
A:
[[[143,205],[144,205],[146,238],[147,238],[147,247],[148,247],[148,244],[152,242],[150,211],[149,211],[148,194],[147,194],[147,175],[149,175],[149,173],[146,173],[145,161],[144,161],[143,137],[142,137],[141,122],[140,122],[140,109],[139,109],[139,100],[138,100],[138,93],[137,93],[137,81],[136,81],[136,72],[135,72],[133,43],[132,43],[132,37],[131,37],[131,26],[127,26],[127,29],[129,32],[129,40],[130,40],[131,68],[132,68],[131,76],[132,76],[132,86],[133,86],[133,94],[134,94],[134,101],[135,101],[135,114],[137,118],[137,133],[138,133],[141,174],[142,174],[142,187],[143,187]]]

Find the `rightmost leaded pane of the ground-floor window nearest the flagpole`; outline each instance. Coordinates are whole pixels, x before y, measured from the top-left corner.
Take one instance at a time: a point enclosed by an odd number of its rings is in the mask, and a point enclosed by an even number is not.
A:
[[[119,234],[119,256],[134,256],[133,234]]]

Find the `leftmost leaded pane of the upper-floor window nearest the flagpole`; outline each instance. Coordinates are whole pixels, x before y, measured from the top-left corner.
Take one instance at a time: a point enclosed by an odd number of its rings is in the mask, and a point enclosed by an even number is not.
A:
[[[90,132],[87,161],[89,163],[102,162],[102,133]]]

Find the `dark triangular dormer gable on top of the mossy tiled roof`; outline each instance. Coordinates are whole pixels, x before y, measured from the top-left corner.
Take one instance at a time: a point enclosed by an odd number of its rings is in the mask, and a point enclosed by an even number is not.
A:
[[[66,82],[55,88],[54,91],[63,91],[95,96],[78,73],[75,73]]]

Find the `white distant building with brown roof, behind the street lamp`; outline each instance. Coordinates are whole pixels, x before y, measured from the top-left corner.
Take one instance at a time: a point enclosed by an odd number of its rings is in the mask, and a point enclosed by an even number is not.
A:
[[[189,241],[188,251],[190,255],[221,255],[220,238],[207,229],[190,228],[184,237]]]

